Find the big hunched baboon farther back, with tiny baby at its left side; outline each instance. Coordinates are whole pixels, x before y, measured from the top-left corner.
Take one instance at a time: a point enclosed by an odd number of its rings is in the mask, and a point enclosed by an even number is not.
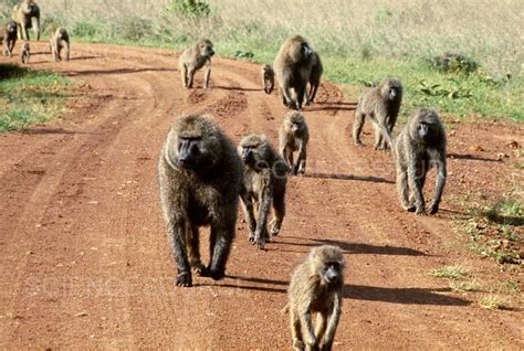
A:
[[[282,44],[274,60],[273,70],[279,79],[285,106],[302,109],[312,64],[312,50],[304,38],[291,36]],[[296,100],[293,99],[291,89],[294,91]]]

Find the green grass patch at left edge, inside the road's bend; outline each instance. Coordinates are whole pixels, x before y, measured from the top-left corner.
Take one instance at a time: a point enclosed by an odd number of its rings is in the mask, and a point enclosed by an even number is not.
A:
[[[63,114],[70,84],[59,74],[0,64],[0,132]]]

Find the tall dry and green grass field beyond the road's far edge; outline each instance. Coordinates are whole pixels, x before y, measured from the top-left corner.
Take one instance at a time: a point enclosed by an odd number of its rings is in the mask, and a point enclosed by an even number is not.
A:
[[[44,30],[64,24],[76,41],[179,50],[209,36],[219,55],[256,62],[272,62],[280,43],[301,33],[322,53],[326,77],[347,84],[352,98],[396,75],[406,87],[404,115],[429,105],[444,116],[524,121],[521,0],[39,3]]]

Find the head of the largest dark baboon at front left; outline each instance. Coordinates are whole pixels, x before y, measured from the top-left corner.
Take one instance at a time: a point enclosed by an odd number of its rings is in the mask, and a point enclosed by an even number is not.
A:
[[[209,119],[202,123],[202,119],[192,115],[180,118],[171,130],[176,146],[171,159],[177,166],[197,172],[212,168],[221,152],[214,129]]]

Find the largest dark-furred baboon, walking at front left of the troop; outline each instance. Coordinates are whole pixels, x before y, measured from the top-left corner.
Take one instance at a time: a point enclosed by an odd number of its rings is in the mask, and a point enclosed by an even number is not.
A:
[[[158,162],[160,205],[177,264],[177,286],[192,285],[190,267],[223,278],[234,237],[242,164],[209,115],[181,115]],[[200,260],[199,227],[210,225],[209,265]]]

